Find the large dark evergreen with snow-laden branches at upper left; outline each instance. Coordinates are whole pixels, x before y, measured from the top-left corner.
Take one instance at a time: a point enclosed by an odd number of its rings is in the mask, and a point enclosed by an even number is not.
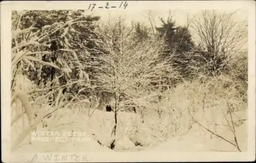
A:
[[[35,53],[32,56],[36,59],[47,63],[53,62],[61,68],[30,61],[30,64],[24,66],[29,68],[24,69],[23,72],[31,81],[39,87],[47,86],[54,79],[56,80],[51,83],[51,86],[56,83],[65,85],[71,80],[84,79],[89,82],[92,76],[90,75],[91,56],[105,53],[101,49],[100,37],[95,32],[94,21],[99,20],[99,16],[85,15],[84,10],[33,10],[22,13],[13,12],[12,17],[12,29],[28,31],[15,37],[17,44],[24,40],[38,42],[38,45],[26,44],[22,50],[29,50]],[[56,41],[58,46],[54,60],[49,48],[52,41]],[[16,46],[15,41],[12,46]],[[75,94],[84,84],[72,85],[72,89],[68,89],[68,92]]]

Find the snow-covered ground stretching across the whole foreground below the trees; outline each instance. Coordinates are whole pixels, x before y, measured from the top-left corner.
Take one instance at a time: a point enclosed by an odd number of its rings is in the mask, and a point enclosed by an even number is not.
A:
[[[23,78],[20,78],[18,81],[23,80]],[[29,86],[22,86],[22,89],[28,90],[30,88]],[[182,104],[184,104],[184,101]],[[216,132],[231,143],[236,144],[234,142],[234,135],[227,125],[227,121],[231,125],[229,114],[225,113],[227,111],[225,108],[227,107],[223,105],[224,102],[221,103],[219,101],[219,104],[220,105],[212,106],[204,111],[199,109],[193,113],[193,117],[203,126]],[[30,145],[30,137],[27,136],[14,152],[238,151],[236,147],[216,135],[210,134],[197,123],[190,126],[188,130],[190,123],[188,123],[188,121],[191,121],[187,109],[185,109],[188,108],[188,106],[182,105],[181,107],[184,108],[181,114],[182,116],[180,117],[180,119],[182,119],[182,121],[180,121],[182,123],[181,126],[184,126],[184,131],[179,132],[179,134],[176,133],[177,136],[167,139],[166,142],[162,142],[162,140],[158,141],[158,139],[160,139],[159,136],[163,135],[156,133],[161,132],[161,130],[154,130],[159,127],[157,125],[154,126],[156,124],[155,121],[159,121],[159,119],[156,120],[150,115],[145,117],[145,122],[142,123],[140,116],[136,113],[118,112],[118,126],[116,132],[117,145],[115,151],[111,150],[109,146],[113,140],[111,133],[114,127],[114,112],[95,110],[92,116],[88,117],[87,113],[89,110],[86,108],[68,108],[64,110],[59,109],[50,119],[45,119],[47,128],[43,128],[42,123],[37,126],[37,131],[60,132],[62,135],[57,137],[66,137],[67,139],[65,139],[65,141],[61,142],[55,140],[46,142],[45,140],[40,139],[40,141],[38,141],[34,138],[34,141],[32,141]],[[197,108],[201,107],[198,106]],[[50,106],[44,108],[46,111],[52,109],[53,108]],[[245,109],[239,110],[240,111],[232,113],[235,123],[234,127],[236,129],[240,150],[247,151],[247,113]],[[90,111],[92,112],[92,110]],[[15,114],[15,109],[13,114]],[[165,118],[168,120],[168,115],[161,120],[165,121]],[[214,123],[216,125],[212,125]],[[166,124],[166,127],[172,127],[169,126],[168,123]],[[160,125],[162,124],[160,123]],[[25,121],[25,126],[28,126],[28,121]],[[23,121],[19,119],[11,127],[11,142],[15,141],[18,134],[26,127],[23,127]],[[81,139],[79,141],[72,141],[72,137],[67,135],[63,136],[63,132],[65,131],[77,131],[86,133],[86,135],[83,135],[84,139],[82,141]],[[140,145],[135,146],[136,143]]]

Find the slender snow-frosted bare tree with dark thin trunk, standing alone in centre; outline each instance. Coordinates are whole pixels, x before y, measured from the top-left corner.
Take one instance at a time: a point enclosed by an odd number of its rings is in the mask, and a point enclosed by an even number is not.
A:
[[[99,63],[95,66],[99,70],[95,78],[97,86],[115,99],[113,148],[118,111],[149,106],[157,98],[161,87],[169,86],[179,76],[167,60],[161,61],[162,41],[155,38],[134,45],[130,36],[131,29],[125,27],[122,19],[104,29],[108,31],[105,32],[108,34],[105,36],[108,38],[105,39],[105,47],[109,53],[95,57]]]

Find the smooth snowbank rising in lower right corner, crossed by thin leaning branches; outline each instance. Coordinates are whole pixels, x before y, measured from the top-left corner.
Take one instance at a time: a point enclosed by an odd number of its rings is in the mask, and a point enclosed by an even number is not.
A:
[[[236,127],[236,133],[238,137],[238,145],[241,151],[247,151],[247,131],[246,131],[246,122],[241,126]],[[194,126],[194,129],[197,128]],[[193,129],[192,129],[193,130]],[[232,146],[230,143],[227,143],[223,139],[213,136],[209,138],[207,134],[200,135],[200,131],[189,131],[186,135],[178,136],[170,141],[163,143],[155,148],[148,149],[154,151],[183,151],[183,152],[238,152],[238,149]],[[230,130],[224,130],[219,133],[222,137],[226,138],[232,143],[235,143],[233,140],[233,134]]]

